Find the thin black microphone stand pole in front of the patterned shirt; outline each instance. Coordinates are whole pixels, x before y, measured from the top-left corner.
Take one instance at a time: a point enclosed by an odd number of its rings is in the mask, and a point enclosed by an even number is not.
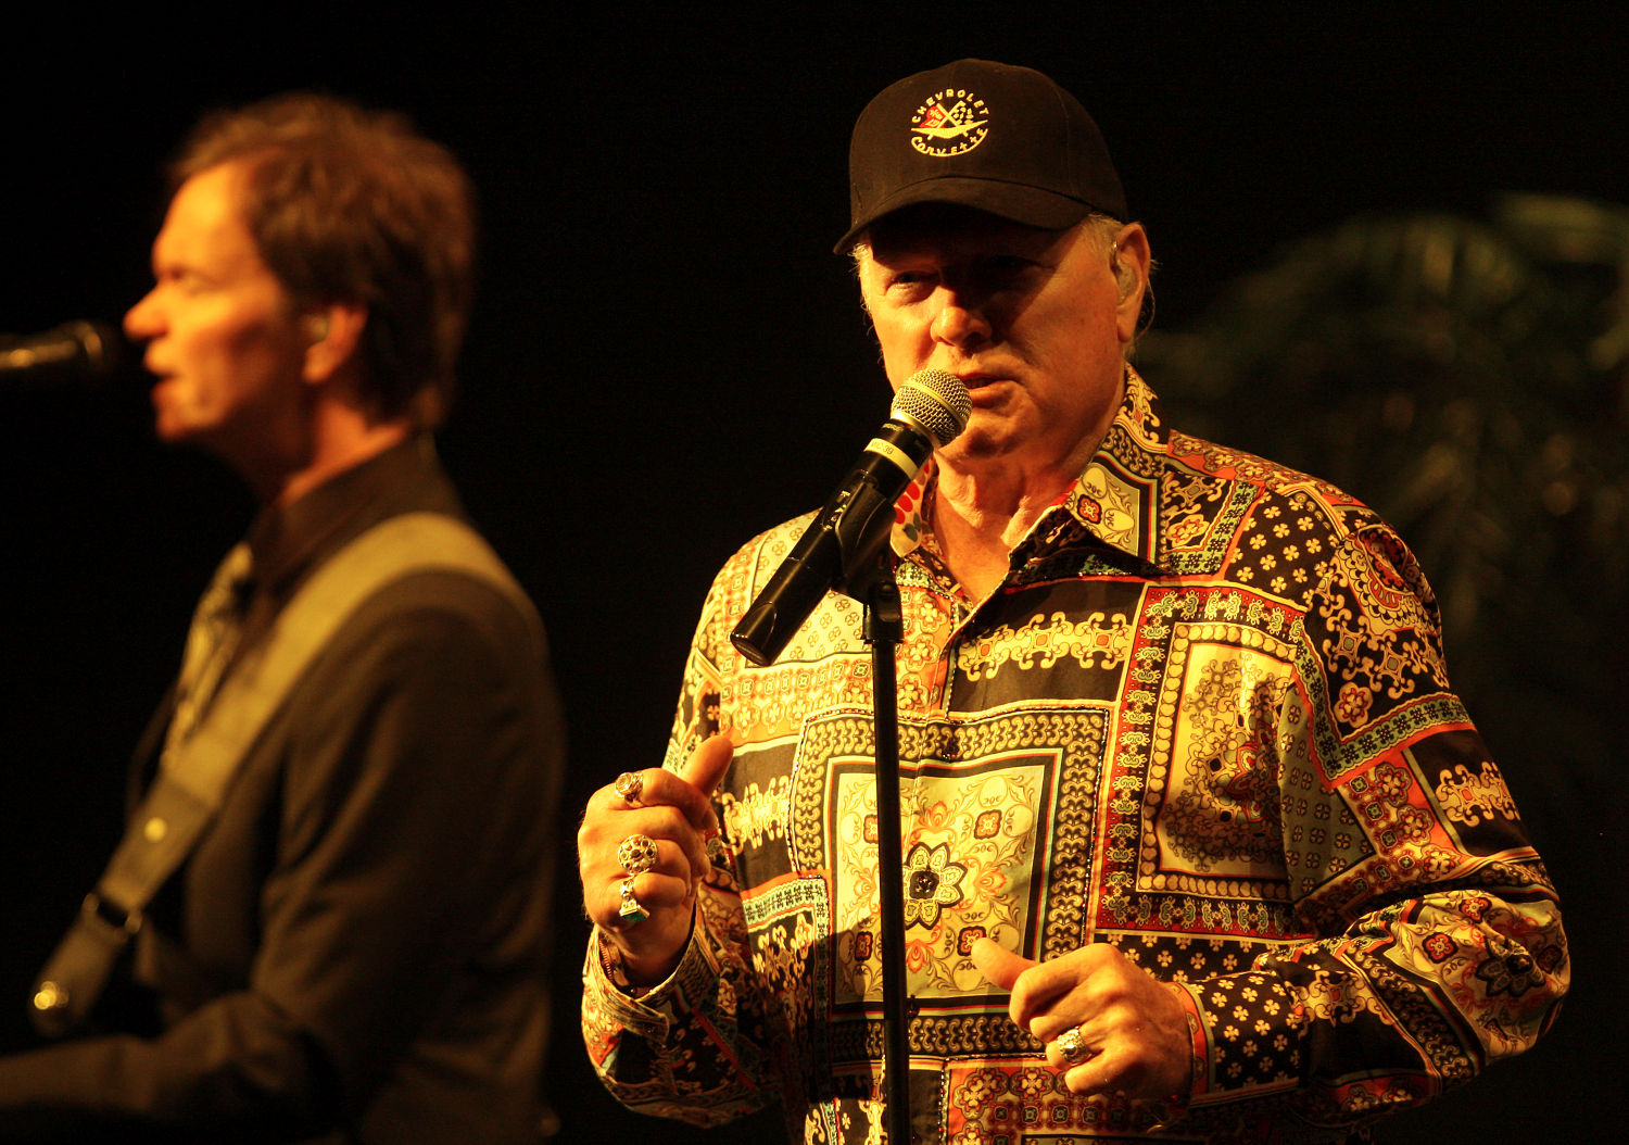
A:
[[[885,534],[886,536],[886,534]],[[906,1013],[906,894],[899,814],[899,684],[896,656],[904,640],[899,585],[888,546],[842,590],[865,606],[872,645],[872,718],[876,774],[876,894],[883,959],[883,1109],[889,1145],[911,1145],[911,1039]]]

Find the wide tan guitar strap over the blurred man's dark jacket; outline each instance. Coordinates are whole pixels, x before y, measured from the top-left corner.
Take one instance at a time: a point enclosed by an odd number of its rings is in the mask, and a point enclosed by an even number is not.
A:
[[[393,516],[345,544],[279,612],[259,650],[226,676],[184,743],[166,752],[96,888],[34,985],[34,1026],[52,1038],[83,1024],[143,910],[213,823],[249,748],[339,625],[407,575],[461,572],[498,588],[525,617],[536,656],[542,625],[487,542],[441,513]]]

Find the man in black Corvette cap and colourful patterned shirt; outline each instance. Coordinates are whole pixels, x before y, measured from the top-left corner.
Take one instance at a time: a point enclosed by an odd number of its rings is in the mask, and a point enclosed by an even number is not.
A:
[[[889,379],[973,399],[893,534],[914,1134],[1339,1140],[1531,1044],[1565,938],[1430,588],[1363,505],[1165,422],[1087,112],[961,60],[872,101],[850,178]],[[795,1138],[870,1142],[860,609],[766,668],[728,640],[806,523],[714,583],[666,767],[590,801],[583,1020],[632,1108],[779,1096]]]

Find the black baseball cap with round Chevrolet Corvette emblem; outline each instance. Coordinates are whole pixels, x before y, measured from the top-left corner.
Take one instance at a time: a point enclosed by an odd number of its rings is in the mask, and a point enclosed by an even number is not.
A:
[[[847,252],[883,215],[950,202],[1062,230],[1124,220],[1126,192],[1080,101],[1034,68],[956,60],[883,90],[849,145]]]

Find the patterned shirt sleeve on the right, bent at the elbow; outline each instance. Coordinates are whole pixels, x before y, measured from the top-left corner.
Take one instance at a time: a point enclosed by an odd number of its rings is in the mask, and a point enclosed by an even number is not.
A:
[[[1181,982],[1194,1109],[1274,1098],[1329,1127],[1531,1046],[1567,990],[1556,891],[1443,671],[1435,598],[1370,523],[1333,546],[1264,761],[1308,933]]]

